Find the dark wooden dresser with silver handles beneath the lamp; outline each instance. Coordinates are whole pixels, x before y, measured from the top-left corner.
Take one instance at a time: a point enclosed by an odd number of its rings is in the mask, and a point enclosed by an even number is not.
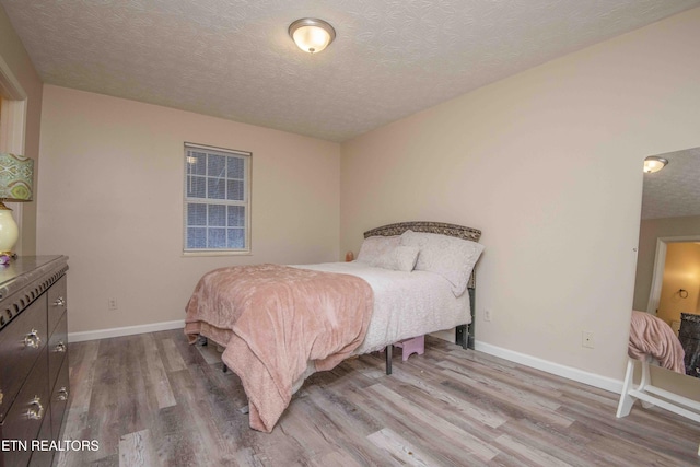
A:
[[[0,266],[0,467],[54,460],[69,396],[67,270],[66,256]]]

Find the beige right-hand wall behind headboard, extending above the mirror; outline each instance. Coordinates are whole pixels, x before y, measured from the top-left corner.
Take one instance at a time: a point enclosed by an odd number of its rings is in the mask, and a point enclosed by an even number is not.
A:
[[[477,341],[620,380],[642,161],[700,145],[697,44],[700,9],[342,144],[340,249],[387,222],[481,229]]]

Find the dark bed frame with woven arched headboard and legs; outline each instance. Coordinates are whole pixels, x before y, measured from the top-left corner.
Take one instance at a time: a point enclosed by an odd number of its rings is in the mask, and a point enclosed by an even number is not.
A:
[[[406,231],[413,232],[427,232],[434,233],[447,236],[454,236],[457,238],[468,240],[471,242],[479,242],[481,237],[481,231],[465,227],[463,225],[455,224],[446,224],[444,222],[424,222],[424,221],[413,221],[413,222],[399,222],[396,224],[383,225],[381,227],[372,229],[371,231],[366,231],[364,233],[364,237],[371,236],[395,236],[400,235]],[[470,325],[460,325],[455,329],[455,343],[462,346],[464,349],[472,349],[475,342],[475,323],[476,323],[476,306],[475,306],[475,292],[476,292],[476,271],[471,271],[471,276],[469,277],[469,282],[467,283],[467,291],[469,292],[469,312],[471,314],[471,323]],[[386,346],[385,355],[386,355],[386,374],[392,374],[392,350],[393,346]]]

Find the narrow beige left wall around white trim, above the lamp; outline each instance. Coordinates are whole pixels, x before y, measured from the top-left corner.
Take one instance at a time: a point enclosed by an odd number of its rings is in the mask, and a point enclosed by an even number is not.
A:
[[[24,155],[34,160],[34,200],[22,206],[21,243],[23,255],[34,255],[36,250],[36,199],[39,187],[36,180],[39,172],[39,130],[42,119],[43,84],[30,60],[22,42],[18,37],[4,9],[0,7],[0,58],[18,80],[27,95],[26,126],[24,128]]]

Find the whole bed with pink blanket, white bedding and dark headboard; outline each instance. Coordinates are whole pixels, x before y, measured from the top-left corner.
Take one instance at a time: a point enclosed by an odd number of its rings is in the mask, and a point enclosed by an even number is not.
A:
[[[250,428],[270,432],[305,377],[346,358],[385,349],[388,374],[394,342],[451,328],[474,348],[480,234],[404,222],[365,232],[351,262],[215,269],[195,288],[185,334],[225,348]]]

